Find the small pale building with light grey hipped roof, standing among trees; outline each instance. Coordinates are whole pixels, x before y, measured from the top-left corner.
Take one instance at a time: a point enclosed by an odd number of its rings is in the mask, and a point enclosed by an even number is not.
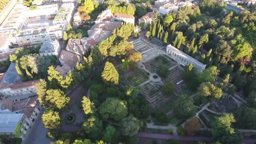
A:
[[[51,41],[45,41],[41,45],[41,48],[39,50],[40,56],[59,56],[59,53],[61,52],[61,46],[59,45],[58,40],[51,40]]]

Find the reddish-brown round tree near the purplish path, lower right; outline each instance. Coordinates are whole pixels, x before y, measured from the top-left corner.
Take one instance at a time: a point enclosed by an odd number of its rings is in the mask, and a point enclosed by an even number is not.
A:
[[[190,118],[184,123],[184,129],[189,136],[194,136],[195,131],[201,128],[201,123],[197,117]]]

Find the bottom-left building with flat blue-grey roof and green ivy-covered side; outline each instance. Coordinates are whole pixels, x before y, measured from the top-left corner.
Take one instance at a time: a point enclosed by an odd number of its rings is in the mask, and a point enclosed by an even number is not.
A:
[[[0,114],[0,135],[21,136],[19,131],[25,115],[24,114]]]

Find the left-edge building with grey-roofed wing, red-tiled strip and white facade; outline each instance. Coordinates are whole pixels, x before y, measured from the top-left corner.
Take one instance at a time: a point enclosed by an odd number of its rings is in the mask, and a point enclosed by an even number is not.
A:
[[[0,94],[5,98],[28,98],[35,96],[35,83],[38,80],[22,82],[16,71],[16,64],[12,62],[7,71],[0,75]]]

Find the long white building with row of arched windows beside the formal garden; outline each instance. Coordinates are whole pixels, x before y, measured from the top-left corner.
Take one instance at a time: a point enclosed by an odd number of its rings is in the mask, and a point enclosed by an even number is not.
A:
[[[186,53],[183,53],[178,48],[173,47],[171,44],[167,45],[166,52],[168,53],[168,56],[184,66],[189,65],[190,63],[193,64],[198,72],[202,72],[206,67],[206,64],[202,64],[200,61],[197,61]]]

